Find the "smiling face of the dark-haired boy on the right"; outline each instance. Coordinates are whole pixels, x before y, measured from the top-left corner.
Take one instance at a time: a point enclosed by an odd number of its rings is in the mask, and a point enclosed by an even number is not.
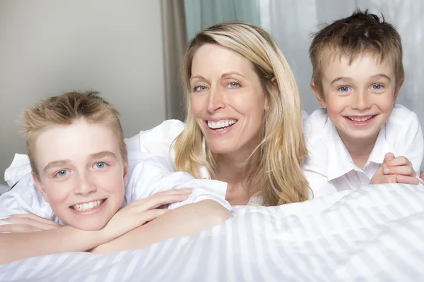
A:
[[[322,73],[323,93],[313,85],[312,90],[327,109],[341,140],[345,144],[375,142],[401,85],[396,85],[393,64],[368,53],[351,64],[346,56],[334,56],[327,62]]]

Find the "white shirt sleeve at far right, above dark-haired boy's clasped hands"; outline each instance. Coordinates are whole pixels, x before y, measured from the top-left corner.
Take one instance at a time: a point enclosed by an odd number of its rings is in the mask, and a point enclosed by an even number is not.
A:
[[[418,116],[411,114],[404,120],[399,130],[396,130],[394,144],[395,157],[404,156],[411,161],[414,171],[420,177],[420,166],[424,158],[424,139]]]

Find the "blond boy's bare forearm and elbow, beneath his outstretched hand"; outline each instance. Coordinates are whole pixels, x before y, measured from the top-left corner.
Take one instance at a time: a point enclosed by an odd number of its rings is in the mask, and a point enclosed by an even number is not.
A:
[[[230,218],[232,213],[213,200],[186,204],[109,243],[96,247],[92,252],[106,255],[121,250],[142,249],[169,238],[195,235]]]

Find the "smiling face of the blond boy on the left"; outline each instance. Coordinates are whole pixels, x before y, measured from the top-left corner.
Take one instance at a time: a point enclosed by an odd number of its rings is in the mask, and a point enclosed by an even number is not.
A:
[[[61,220],[99,230],[124,200],[128,166],[110,127],[81,119],[42,132],[35,142],[37,188]]]

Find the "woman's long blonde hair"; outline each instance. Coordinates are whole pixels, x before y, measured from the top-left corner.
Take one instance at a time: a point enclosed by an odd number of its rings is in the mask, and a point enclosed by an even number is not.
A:
[[[245,168],[247,188],[261,188],[266,206],[301,202],[308,198],[308,185],[302,173],[307,154],[302,135],[302,109],[298,86],[276,42],[260,27],[230,22],[213,25],[199,32],[189,43],[182,69],[187,93],[187,127],[175,140],[175,165],[201,178],[206,166],[216,178],[216,154],[202,145],[203,133],[196,123],[190,104],[190,78],[196,51],[204,44],[219,44],[236,51],[252,62],[266,94],[269,109],[264,118],[261,142]],[[275,81],[273,80],[275,78]]]

